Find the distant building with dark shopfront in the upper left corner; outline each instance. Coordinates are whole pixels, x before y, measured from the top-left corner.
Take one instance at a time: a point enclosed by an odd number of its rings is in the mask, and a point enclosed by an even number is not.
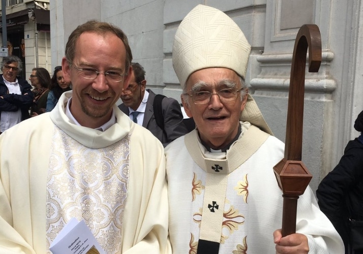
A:
[[[20,75],[28,78],[34,67],[43,67],[51,73],[49,0],[6,0],[6,4],[7,46],[9,54],[23,61]],[[1,36],[2,29],[0,22]]]

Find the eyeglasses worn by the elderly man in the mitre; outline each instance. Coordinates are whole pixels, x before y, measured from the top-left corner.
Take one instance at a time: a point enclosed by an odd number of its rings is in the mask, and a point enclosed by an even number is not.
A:
[[[240,89],[226,88],[221,89],[218,92],[198,91],[187,93],[188,96],[192,97],[193,103],[197,105],[207,104],[210,102],[211,96],[217,94],[221,102],[232,102],[238,98]]]

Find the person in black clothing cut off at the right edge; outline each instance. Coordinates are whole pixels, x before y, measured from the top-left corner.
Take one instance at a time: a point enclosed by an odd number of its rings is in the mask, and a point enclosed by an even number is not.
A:
[[[338,165],[320,182],[316,197],[320,209],[337,229],[345,245],[350,249],[349,219],[363,221],[363,111],[354,122],[359,137],[348,142]],[[361,228],[363,235],[363,227]],[[363,254],[363,249],[354,254]]]

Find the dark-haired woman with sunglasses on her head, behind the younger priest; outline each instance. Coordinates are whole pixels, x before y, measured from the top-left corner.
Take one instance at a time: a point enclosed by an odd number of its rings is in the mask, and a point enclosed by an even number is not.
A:
[[[72,90],[70,87],[71,83],[66,82],[63,78],[62,66],[57,66],[54,68],[53,77],[49,86],[49,93],[47,98],[47,107],[45,112],[50,112],[57,104],[59,97],[62,93]]]

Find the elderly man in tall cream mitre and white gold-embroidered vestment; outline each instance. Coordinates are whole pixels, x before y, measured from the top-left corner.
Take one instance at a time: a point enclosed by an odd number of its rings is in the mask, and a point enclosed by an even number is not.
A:
[[[176,30],[173,67],[197,127],[165,148],[172,251],[341,254],[310,187],[298,199],[296,233],[282,237],[273,168],[284,144],[248,93],[250,50],[238,25],[212,7],[198,5]]]

